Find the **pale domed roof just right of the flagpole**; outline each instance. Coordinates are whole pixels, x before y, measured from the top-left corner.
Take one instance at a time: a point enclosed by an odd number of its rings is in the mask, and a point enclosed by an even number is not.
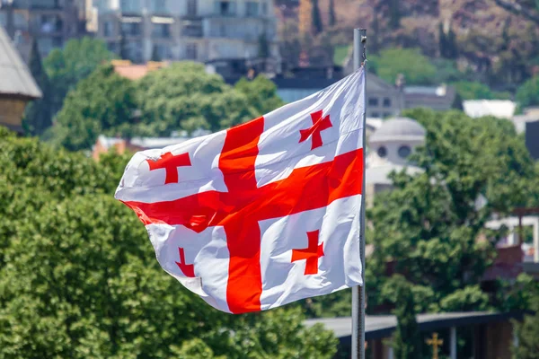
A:
[[[411,118],[391,118],[370,136],[370,143],[386,141],[424,141],[425,128]]]

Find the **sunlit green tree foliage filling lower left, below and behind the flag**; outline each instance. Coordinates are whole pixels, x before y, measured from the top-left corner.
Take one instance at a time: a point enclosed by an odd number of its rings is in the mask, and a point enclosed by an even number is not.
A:
[[[0,127],[1,358],[331,358],[298,309],[216,311],[159,267],[99,163]],[[123,165],[122,165],[123,163]]]

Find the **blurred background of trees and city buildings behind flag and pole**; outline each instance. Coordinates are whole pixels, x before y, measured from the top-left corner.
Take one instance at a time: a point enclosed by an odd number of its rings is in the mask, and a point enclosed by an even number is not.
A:
[[[349,292],[229,320],[155,279],[144,228],[110,200],[132,153],[352,73],[357,27],[368,357],[536,358],[536,3],[0,0],[0,358],[347,357]]]

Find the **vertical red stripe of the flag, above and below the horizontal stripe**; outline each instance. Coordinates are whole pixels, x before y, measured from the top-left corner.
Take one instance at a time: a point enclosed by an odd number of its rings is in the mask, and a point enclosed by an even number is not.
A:
[[[254,164],[258,143],[264,131],[264,118],[257,118],[226,131],[225,144],[219,157],[230,194],[256,193]],[[238,207],[234,206],[237,210]],[[233,313],[261,310],[261,230],[256,220],[244,217],[242,222],[225,224],[226,245],[230,255],[226,302]]]

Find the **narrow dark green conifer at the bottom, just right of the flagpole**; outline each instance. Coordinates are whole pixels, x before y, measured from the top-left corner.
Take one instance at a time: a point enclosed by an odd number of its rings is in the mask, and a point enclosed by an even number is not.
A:
[[[420,326],[416,321],[416,308],[411,285],[403,276],[393,276],[390,280],[395,290],[394,311],[397,328],[393,335],[393,353],[397,359],[420,358]]]

